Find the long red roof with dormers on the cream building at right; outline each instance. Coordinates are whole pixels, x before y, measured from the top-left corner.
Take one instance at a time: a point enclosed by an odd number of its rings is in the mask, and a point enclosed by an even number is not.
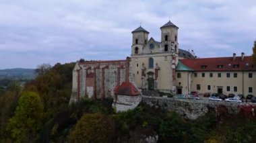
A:
[[[220,57],[181,59],[180,61],[196,71],[256,70],[251,56],[244,56],[243,60],[241,60],[241,56],[236,56],[235,60],[233,57]],[[235,67],[236,65],[238,67]],[[218,68],[218,66],[222,66],[222,68]]]

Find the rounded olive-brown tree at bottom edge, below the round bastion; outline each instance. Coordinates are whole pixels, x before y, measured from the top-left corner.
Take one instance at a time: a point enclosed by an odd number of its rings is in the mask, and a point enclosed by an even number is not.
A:
[[[113,142],[113,121],[102,113],[87,113],[69,134],[69,142]]]

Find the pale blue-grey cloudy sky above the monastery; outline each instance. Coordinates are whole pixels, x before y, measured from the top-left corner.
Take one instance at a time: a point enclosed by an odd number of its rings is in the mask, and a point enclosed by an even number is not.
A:
[[[160,41],[169,19],[201,58],[252,54],[255,0],[0,0],[0,69],[124,59],[131,31],[141,23]]]

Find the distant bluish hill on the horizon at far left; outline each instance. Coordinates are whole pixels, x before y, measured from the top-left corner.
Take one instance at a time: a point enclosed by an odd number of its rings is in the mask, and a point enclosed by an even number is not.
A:
[[[32,68],[10,68],[0,70],[0,79],[34,79],[36,73]]]

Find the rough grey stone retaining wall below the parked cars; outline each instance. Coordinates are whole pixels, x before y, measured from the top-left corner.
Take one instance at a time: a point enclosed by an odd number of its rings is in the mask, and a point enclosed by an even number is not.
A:
[[[195,100],[195,99],[175,99],[168,97],[148,97],[142,96],[143,103],[151,106],[161,106],[170,111],[177,111],[183,117],[195,120],[197,117],[205,115],[209,107],[217,108],[224,105],[228,109],[228,113],[238,113],[239,105],[248,105],[249,103],[230,103],[224,101],[208,101],[208,100]]]

